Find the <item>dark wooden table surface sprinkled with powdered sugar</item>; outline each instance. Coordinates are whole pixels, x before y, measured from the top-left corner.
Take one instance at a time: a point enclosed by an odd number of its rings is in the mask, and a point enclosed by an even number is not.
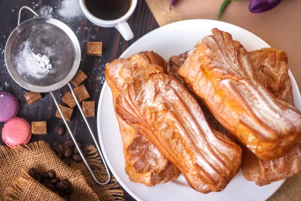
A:
[[[29,105],[24,97],[24,94],[28,91],[19,86],[13,78],[11,78],[6,69],[3,50],[5,49],[7,38],[17,26],[18,11],[20,7],[28,5],[39,12],[43,6],[49,5],[52,8],[52,12],[50,14],[52,14],[54,18],[66,22],[76,33],[82,50],[82,61],[79,68],[88,75],[88,79],[84,82],[84,84],[91,96],[89,100],[95,101],[95,108],[97,108],[99,95],[104,82],[105,64],[115,58],[118,58],[120,54],[134,41],[159,26],[146,2],[144,0],[138,0],[136,10],[128,20],[128,23],[134,32],[134,38],[129,41],[125,41],[115,28],[98,27],[97,25],[93,25],[93,23],[87,20],[84,16],[73,17],[72,19],[62,17],[59,14],[59,10],[61,9],[63,1],[64,0],[0,1],[0,91],[10,92],[17,97],[19,101],[19,117],[25,118],[29,122],[42,120],[47,121],[48,134],[33,135],[31,141],[45,140],[49,142],[51,146],[62,144],[66,139],[70,139],[70,135],[68,133],[64,136],[56,134],[56,128],[59,125],[62,125],[63,121],[55,117],[57,108],[51,98],[51,95],[49,93],[42,93],[43,98],[40,101]],[[47,8],[46,10],[50,11],[50,7],[44,8]],[[22,14],[22,21],[31,17],[33,17],[33,14],[29,11],[25,11]],[[87,41],[102,41],[103,55],[88,56]],[[60,99],[66,92],[68,92],[68,87],[66,86],[55,91],[59,102],[61,102]],[[93,131],[97,133],[96,117],[88,118],[88,120]],[[2,134],[3,125],[4,123],[0,122],[0,135]],[[78,140],[85,144],[92,143],[93,140],[89,135],[88,129],[85,126],[83,118],[77,108],[75,108],[70,126]],[[0,144],[5,144],[2,138],[0,138]],[[126,191],[124,191],[124,194],[126,200],[134,200]]]

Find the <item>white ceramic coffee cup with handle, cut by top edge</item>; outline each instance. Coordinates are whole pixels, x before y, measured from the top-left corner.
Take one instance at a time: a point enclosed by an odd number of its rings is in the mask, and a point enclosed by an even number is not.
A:
[[[122,37],[125,40],[130,40],[134,37],[133,31],[130,29],[128,23],[126,22],[127,19],[133,14],[136,5],[137,5],[137,0],[132,0],[131,5],[128,9],[128,11],[120,18],[114,19],[114,20],[104,20],[97,18],[94,16],[86,7],[85,1],[84,0],[79,0],[80,7],[83,11],[83,13],[86,15],[86,17],[95,23],[98,26],[102,27],[115,27],[117,30],[120,32]]]

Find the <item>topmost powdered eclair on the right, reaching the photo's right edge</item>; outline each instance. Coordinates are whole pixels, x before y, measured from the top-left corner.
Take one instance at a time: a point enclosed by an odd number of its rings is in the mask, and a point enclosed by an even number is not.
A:
[[[257,80],[246,49],[212,29],[178,71],[215,118],[259,158],[280,157],[301,139],[301,113]]]

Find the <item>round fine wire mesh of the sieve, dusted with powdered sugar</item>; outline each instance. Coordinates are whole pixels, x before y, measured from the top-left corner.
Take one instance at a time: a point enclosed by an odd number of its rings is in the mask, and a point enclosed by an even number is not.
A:
[[[49,56],[50,72],[33,70],[27,62],[32,52]],[[18,34],[12,46],[12,61],[18,74],[30,84],[47,86],[63,80],[72,69],[75,50],[69,36],[49,23],[36,23]]]

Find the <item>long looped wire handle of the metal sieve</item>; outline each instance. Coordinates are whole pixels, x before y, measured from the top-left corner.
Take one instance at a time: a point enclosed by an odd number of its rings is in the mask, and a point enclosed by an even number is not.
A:
[[[102,159],[102,161],[103,161],[103,164],[104,164],[104,166],[105,166],[105,169],[106,169],[106,171],[107,171],[107,173],[108,173],[108,179],[107,179],[107,181],[105,181],[105,182],[103,182],[103,183],[97,180],[95,174],[93,173],[93,170],[91,169],[91,167],[90,167],[90,165],[88,164],[88,162],[87,162],[87,160],[86,160],[84,154],[82,153],[82,151],[81,151],[81,149],[80,149],[80,147],[79,147],[79,145],[78,145],[78,143],[77,143],[77,141],[76,141],[76,139],[75,139],[75,137],[74,137],[74,135],[73,135],[73,132],[71,131],[71,128],[70,128],[70,126],[69,126],[69,124],[68,124],[68,122],[67,122],[67,120],[66,120],[66,118],[65,118],[65,116],[64,116],[64,114],[63,114],[63,112],[62,112],[62,110],[61,110],[61,108],[60,108],[60,106],[59,106],[58,101],[56,100],[56,98],[55,98],[55,96],[54,96],[54,94],[53,94],[52,92],[50,92],[50,94],[51,94],[51,96],[52,96],[52,98],[53,98],[53,100],[54,100],[54,102],[55,102],[55,104],[56,104],[56,106],[57,106],[57,108],[58,108],[58,110],[59,110],[59,112],[60,112],[60,114],[61,114],[61,116],[62,116],[64,122],[65,122],[65,125],[66,125],[66,127],[67,127],[67,129],[68,129],[68,131],[69,131],[69,134],[70,134],[70,136],[71,136],[71,138],[72,138],[72,140],[73,140],[73,142],[74,142],[74,144],[75,144],[77,150],[79,151],[80,156],[82,157],[83,161],[85,162],[86,166],[88,167],[88,169],[89,169],[89,171],[90,171],[92,177],[94,178],[94,180],[95,180],[98,184],[100,184],[100,185],[106,185],[106,184],[108,184],[108,182],[111,180],[111,175],[110,175],[109,168],[108,168],[108,166],[107,166],[107,164],[106,164],[106,162],[105,162],[105,160],[104,160],[104,157],[103,157],[102,152],[101,152],[101,150],[100,150],[100,147],[99,147],[99,145],[98,145],[98,143],[97,143],[97,140],[96,140],[96,138],[95,138],[95,136],[94,136],[94,134],[93,134],[93,131],[92,131],[90,125],[89,125],[89,122],[88,122],[86,116],[84,115],[84,112],[83,112],[83,110],[82,110],[82,108],[81,108],[81,105],[80,105],[80,103],[79,103],[79,101],[78,101],[78,99],[77,99],[77,97],[76,97],[76,95],[75,95],[75,93],[74,93],[74,91],[73,91],[73,88],[72,88],[71,84],[68,83],[68,86],[69,86],[69,88],[70,88],[70,90],[71,90],[71,93],[72,93],[72,95],[73,95],[73,97],[74,97],[74,99],[75,99],[75,101],[76,101],[76,104],[77,104],[77,106],[78,106],[78,108],[79,108],[79,110],[80,110],[80,112],[81,112],[81,114],[82,114],[82,116],[83,116],[83,118],[84,118],[84,120],[85,120],[87,126],[88,126],[88,129],[89,129],[90,134],[91,134],[91,136],[92,136],[92,138],[93,138],[93,140],[94,140],[94,142],[95,142],[95,145],[96,145],[96,148],[97,148],[97,150],[98,150],[98,153],[99,153],[99,155],[100,155],[100,157],[101,157],[101,159]]]

